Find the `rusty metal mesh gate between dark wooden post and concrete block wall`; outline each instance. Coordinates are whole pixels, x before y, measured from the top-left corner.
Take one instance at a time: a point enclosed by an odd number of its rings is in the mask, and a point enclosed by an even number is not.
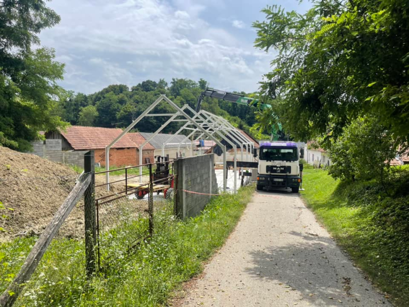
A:
[[[142,172],[140,169],[142,168]],[[173,162],[161,159],[153,164],[97,172],[109,172],[110,184],[96,184],[96,191],[108,195],[96,198],[98,267],[105,269],[133,250],[154,232],[155,214],[174,207]],[[98,182],[98,180],[97,180]]]

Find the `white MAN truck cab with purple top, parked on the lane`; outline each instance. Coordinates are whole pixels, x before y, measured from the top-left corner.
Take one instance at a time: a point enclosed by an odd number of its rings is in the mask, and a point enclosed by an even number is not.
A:
[[[257,190],[272,188],[291,188],[297,193],[301,183],[301,155],[295,142],[261,143],[259,153],[254,151],[254,157],[259,158]]]

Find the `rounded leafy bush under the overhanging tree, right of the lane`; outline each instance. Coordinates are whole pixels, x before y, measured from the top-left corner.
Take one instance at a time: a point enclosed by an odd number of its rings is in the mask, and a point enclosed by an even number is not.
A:
[[[343,181],[380,180],[389,173],[389,161],[396,155],[391,133],[375,118],[357,118],[331,144],[329,156],[334,163],[329,173]]]

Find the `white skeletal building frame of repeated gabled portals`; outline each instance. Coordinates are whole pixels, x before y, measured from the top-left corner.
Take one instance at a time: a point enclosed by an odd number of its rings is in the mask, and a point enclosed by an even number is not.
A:
[[[166,101],[174,110],[175,113],[172,114],[156,114],[150,113],[159,103],[162,101]],[[186,111],[189,111],[192,116],[189,116]],[[185,124],[174,134],[172,135],[165,143],[162,144],[162,155],[164,155],[164,148],[167,144],[178,144],[178,151],[180,151],[180,146],[183,144],[189,144],[186,142],[190,138],[191,149],[193,151],[193,142],[202,139],[203,137],[206,139],[213,140],[217,145],[219,145],[223,150],[223,191],[226,191],[227,188],[227,168],[226,168],[226,155],[227,150],[226,146],[223,145],[219,140],[223,139],[226,143],[231,145],[234,149],[234,192],[237,191],[237,145],[239,144],[241,147],[241,160],[243,161],[243,147],[250,149],[250,156],[251,155],[251,148],[254,146],[253,142],[249,142],[249,140],[241,134],[231,123],[229,123],[226,119],[214,115],[210,112],[200,110],[198,113],[193,110],[188,105],[184,105],[182,108],[178,107],[176,104],[173,103],[169,98],[165,95],[161,95],[152,105],[150,105],[137,119],[135,119],[126,129],[115,139],[106,146],[106,169],[109,169],[109,150],[110,148],[119,141],[127,132],[129,132],[139,121],[141,121],[145,116],[170,116],[170,118],[162,124],[159,129],[154,132],[148,139],[145,140],[139,146],[139,164],[142,165],[142,151],[143,147],[158,133],[160,133],[168,124],[171,122],[182,121]],[[177,119],[177,117],[182,117],[182,119]],[[191,133],[180,143],[170,143],[176,135],[182,133],[184,130],[189,130]],[[199,133],[199,136],[195,138],[195,134]],[[194,139],[194,140],[193,140]],[[233,141],[232,141],[233,140]],[[233,143],[235,142],[235,143]],[[193,154],[192,154],[193,155]],[[251,158],[252,159],[252,158]],[[142,173],[142,166],[140,166],[140,173]],[[140,177],[140,182],[142,182],[142,176]],[[107,183],[107,190],[109,190],[109,172],[106,173],[106,183]]]

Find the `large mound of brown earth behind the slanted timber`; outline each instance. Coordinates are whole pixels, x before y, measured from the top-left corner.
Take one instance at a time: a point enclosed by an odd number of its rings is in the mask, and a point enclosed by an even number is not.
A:
[[[40,233],[75,185],[67,165],[0,146],[0,240]]]

